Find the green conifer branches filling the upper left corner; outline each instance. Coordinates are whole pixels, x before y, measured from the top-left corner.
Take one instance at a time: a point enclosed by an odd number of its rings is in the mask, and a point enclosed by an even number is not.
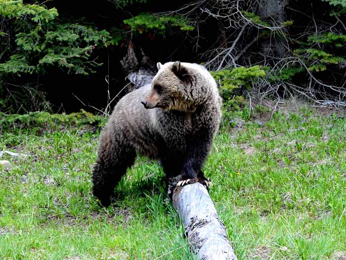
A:
[[[54,65],[67,73],[87,75],[101,65],[91,59],[94,49],[112,40],[105,30],[60,23],[57,10],[43,5],[0,0],[0,15],[12,22],[17,45],[9,59],[0,63],[0,72],[5,74],[44,73]]]

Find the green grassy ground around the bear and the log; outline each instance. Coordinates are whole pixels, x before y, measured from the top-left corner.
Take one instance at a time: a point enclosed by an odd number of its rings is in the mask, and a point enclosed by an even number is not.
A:
[[[224,118],[204,168],[238,259],[344,260],[345,116],[248,112]],[[0,150],[27,155],[1,158],[11,167],[0,168],[0,259],[196,259],[156,163],[137,159],[117,202],[97,206],[90,172],[102,119],[0,122]]]

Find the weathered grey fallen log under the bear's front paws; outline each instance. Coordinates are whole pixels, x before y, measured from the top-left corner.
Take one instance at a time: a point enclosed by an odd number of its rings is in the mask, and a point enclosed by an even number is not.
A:
[[[199,260],[237,259],[205,186],[197,182],[174,188],[173,207],[185,227],[191,252]]]

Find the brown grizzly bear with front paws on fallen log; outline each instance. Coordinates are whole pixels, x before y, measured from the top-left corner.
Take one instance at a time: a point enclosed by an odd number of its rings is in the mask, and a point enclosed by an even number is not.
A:
[[[221,118],[221,97],[212,75],[193,63],[157,64],[151,85],[119,100],[101,132],[92,174],[93,194],[103,206],[136,154],[159,160],[177,185],[211,182],[202,167]]]

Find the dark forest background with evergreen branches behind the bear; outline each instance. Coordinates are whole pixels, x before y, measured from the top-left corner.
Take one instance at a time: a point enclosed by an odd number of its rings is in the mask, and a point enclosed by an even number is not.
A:
[[[212,71],[225,108],[345,106],[346,0],[0,0],[1,112],[107,114],[175,60]]]

